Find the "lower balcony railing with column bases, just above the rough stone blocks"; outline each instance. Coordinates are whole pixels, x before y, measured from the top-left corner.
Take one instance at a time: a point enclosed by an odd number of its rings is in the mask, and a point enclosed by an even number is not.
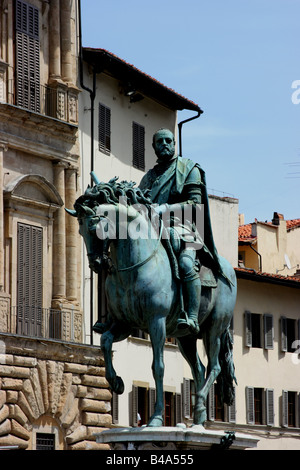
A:
[[[11,333],[33,338],[75,341],[74,312],[72,309],[18,305],[11,309]]]

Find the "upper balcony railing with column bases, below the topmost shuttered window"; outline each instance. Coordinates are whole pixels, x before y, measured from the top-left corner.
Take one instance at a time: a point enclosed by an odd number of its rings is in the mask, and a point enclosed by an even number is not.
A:
[[[28,80],[8,80],[7,97],[2,100],[45,116],[77,123],[77,95],[61,85],[51,87]]]

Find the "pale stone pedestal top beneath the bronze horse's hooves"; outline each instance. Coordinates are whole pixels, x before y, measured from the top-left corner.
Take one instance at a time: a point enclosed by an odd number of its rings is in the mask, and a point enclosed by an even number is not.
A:
[[[257,446],[258,439],[233,431],[205,429],[203,426],[115,428],[96,434],[98,443],[112,450],[245,450]]]

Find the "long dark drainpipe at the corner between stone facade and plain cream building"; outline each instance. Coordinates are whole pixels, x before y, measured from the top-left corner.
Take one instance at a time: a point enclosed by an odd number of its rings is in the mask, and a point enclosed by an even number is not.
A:
[[[91,172],[94,171],[94,114],[95,114],[95,97],[96,97],[96,71],[93,67],[93,88],[90,89],[83,83],[83,54],[82,54],[82,33],[81,33],[81,1],[78,0],[78,16],[79,16],[79,77],[80,86],[90,94],[91,100]],[[91,186],[93,179],[91,177]],[[94,322],[94,273],[90,270],[90,342],[93,344],[93,322]]]

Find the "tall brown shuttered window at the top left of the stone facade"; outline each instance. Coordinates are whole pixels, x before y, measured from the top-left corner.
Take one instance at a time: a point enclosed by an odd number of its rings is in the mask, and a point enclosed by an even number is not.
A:
[[[40,111],[39,10],[16,0],[16,105]]]

